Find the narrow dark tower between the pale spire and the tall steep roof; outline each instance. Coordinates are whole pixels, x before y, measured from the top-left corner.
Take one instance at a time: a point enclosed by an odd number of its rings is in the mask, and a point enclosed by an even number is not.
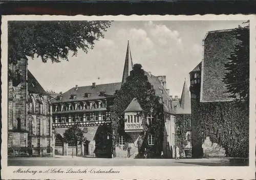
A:
[[[200,62],[190,75],[190,93],[191,93],[191,144],[192,157],[202,158],[202,136],[198,130],[199,126],[199,103],[200,103],[200,89],[201,89],[201,70],[202,62]]]

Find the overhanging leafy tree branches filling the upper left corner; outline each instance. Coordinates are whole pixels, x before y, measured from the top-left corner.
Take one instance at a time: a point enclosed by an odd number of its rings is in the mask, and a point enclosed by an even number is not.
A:
[[[69,52],[88,52],[111,21],[9,21],[8,59],[10,62],[41,57],[42,62],[68,60]]]

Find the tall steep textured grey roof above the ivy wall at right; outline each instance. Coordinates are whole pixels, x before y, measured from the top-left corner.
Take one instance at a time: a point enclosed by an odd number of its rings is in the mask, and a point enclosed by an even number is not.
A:
[[[210,31],[204,39],[202,62],[201,102],[230,101],[227,88],[222,81],[225,77],[225,64],[229,61],[236,39],[232,29]]]

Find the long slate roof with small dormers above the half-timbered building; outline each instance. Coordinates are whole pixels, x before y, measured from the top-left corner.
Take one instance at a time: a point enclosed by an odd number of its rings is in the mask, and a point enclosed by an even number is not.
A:
[[[62,99],[57,100],[56,98],[52,99],[51,102],[72,102],[72,101],[85,101],[85,100],[94,100],[94,99],[105,99],[106,96],[100,96],[100,92],[104,92],[106,95],[114,95],[116,90],[121,88],[121,82],[109,83],[109,84],[96,84],[95,87],[92,85],[73,87],[66,93],[63,93]],[[89,97],[84,97],[84,94],[90,94]],[[76,95],[75,99],[70,99],[71,95]]]

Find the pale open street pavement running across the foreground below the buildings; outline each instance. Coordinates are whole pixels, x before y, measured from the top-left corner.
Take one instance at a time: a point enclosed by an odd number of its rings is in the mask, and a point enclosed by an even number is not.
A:
[[[9,158],[8,166],[234,166],[227,159]],[[237,164],[237,166],[239,166]],[[245,166],[241,165],[240,166]]]

